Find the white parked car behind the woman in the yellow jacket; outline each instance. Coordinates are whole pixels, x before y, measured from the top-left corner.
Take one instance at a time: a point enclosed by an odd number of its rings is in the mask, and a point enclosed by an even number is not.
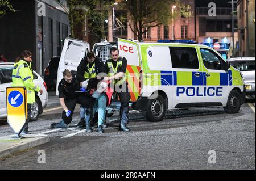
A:
[[[11,87],[14,63],[0,63],[0,119],[7,117],[6,113],[6,87]],[[35,71],[34,82],[43,90],[43,94],[36,95],[36,102],[32,105],[31,121],[36,121],[43,109],[48,104],[48,92],[46,83]]]

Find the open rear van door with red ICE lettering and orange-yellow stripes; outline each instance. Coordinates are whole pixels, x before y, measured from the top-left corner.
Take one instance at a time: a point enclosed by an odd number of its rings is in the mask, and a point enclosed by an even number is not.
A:
[[[140,95],[139,73],[141,71],[141,61],[139,59],[138,44],[124,39],[118,39],[117,43],[119,56],[127,60],[126,80],[131,95],[131,102],[135,102]]]

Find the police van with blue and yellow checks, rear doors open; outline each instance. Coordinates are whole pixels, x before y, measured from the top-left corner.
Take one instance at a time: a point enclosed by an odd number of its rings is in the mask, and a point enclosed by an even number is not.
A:
[[[116,44],[98,43],[93,50],[108,57],[113,45],[118,47],[119,56],[127,59],[131,106],[143,110],[149,121],[162,120],[171,109],[224,107],[227,113],[237,113],[245,101],[240,71],[210,47],[118,39]],[[88,50],[89,44],[84,41],[65,40],[59,81],[65,69],[76,71]]]

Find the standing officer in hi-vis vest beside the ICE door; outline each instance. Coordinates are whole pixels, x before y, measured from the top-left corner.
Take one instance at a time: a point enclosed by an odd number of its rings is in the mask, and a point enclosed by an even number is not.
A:
[[[125,57],[119,57],[119,50],[116,47],[111,49],[111,57],[105,62],[105,72],[108,77],[104,77],[106,81],[111,81],[114,90],[117,92],[121,107],[120,107],[120,129],[129,132],[128,113],[129,113],[129,100],[131,99],[128,85],[126,82],[126,67],[127,60]],[[118,91],[117,91],[118,90]]]

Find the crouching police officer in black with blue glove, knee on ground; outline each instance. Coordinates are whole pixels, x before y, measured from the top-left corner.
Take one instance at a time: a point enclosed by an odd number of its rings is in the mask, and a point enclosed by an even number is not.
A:
[[[88,108],[93,98],[85,96],[84,94],[77,93],[83,91],[81,89],[75,74],[71,74],[69,70],[63,72],[63,79],[58,86],[60,104],[63,107],[62,120],[59,123],[52,123],[51,128],[66,128],[72,121],[73,112],[76,104]]]

